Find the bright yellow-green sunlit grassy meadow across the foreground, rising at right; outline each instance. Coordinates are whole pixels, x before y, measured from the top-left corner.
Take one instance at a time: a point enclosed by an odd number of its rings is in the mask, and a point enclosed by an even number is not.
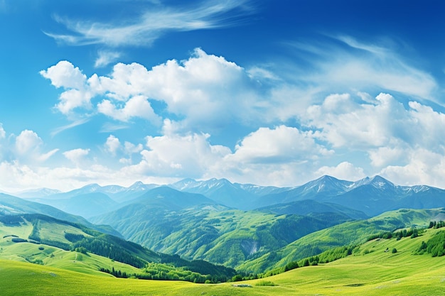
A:
[[[117,279],[0,260],[0,295],[444,295],[445,257],[414,255],[438,231],[443,229],[414,239],[376,239],[338,261],[236,283],[250,287]],[[258,286],[262,281],[274,286]]]

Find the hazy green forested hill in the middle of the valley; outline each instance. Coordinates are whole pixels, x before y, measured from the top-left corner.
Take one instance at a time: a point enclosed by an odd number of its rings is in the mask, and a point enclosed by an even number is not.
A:
[[[134,203],[92,221],[110,224],[126,239],[154,251],[237,268],[313,231],[350,219],[333,212],[302,216],[227,210],[214,204],[171,210]]]

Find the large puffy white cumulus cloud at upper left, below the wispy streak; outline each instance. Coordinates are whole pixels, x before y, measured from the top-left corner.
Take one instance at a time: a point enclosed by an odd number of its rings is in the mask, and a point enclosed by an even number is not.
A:
[[[41,75],[65,89],[56,106],[63,114],[76,108],[88,109],[94,104],[92,99],[107,97],[97,102],[96,112],[117,121],[137,117],[159,125],[161,117],[149,102],[154,99],[181,118],[176,121],[176,129],[183,131],[208,131],[233,121],[258,121],[260,111],[269,106],[262,89],[245,69],[199,48],[188,60],[169,60],[151,70],[137,63],[118,63],[109,76],[92,75],[87,79],[69,62],[59,62]]]

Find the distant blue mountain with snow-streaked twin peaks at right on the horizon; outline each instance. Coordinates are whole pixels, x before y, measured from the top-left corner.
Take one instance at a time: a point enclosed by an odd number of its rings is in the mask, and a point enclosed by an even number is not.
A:
[[[323,176],[292,190],[264,195],[257,204],[266,207],[304,199],[340,204],[375,216],[400,208],[445,207],[445,190],[429,186],[399,186],[378,175],[357,182]]]

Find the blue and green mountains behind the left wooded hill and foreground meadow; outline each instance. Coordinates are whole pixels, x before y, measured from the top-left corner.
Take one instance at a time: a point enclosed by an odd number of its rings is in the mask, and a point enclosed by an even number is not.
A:
[[[311,243],[299,247],[302,253],[289,247],[317,231],[402,208],[445,206],[445,190],[395,185],[380,176],[355,182],[323,176],[296,187],[265,187],[226,179],[185,179],[171,185],[136,182],[130,187],[92,184],[70,192],[43,189],[22,196],[28,198],[2,194],[0,210],[4,214],[31,212],[67,221],[77,219],[77,223],[95,229],[105,227],[97,224],[109,225],[109,232],[152,251],[255,272],[276,266],[289,256],[296,260],[323,251],[327,247],[320,242],[316,247]],[[14,208],[14,203],[21,204],[21,210]],[[384,229],[407,226],[400,219],[385,221],[385,225]],[[371,229],[382,229],[379,227],[376,224]],[[339,241],[336,246],[350,242]]]

